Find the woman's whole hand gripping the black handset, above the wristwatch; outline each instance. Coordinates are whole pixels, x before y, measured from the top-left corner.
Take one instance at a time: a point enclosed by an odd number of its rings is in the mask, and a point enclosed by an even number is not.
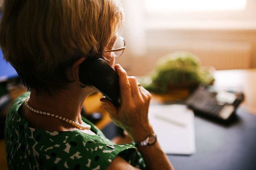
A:
[[[127,76],[126,71],[115,65],[119,76],[121,104],[115,107],[109,100],[102,97],[102,107],[114,123],[125,129],[134,141],[142,141],[153,130],[148,122],[148,107],[151,94],[142,86],[138,86],[134,76]]]

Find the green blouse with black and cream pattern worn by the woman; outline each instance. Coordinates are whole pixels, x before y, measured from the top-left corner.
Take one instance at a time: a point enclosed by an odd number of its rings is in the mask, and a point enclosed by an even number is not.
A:
[[[145,169],[145,163],[133,144],[116,145],[90,121],[96,135],[74,131],[44,131],[29,127],[19,109],[30,94],[18,97],[11,106],[5,125],[6,157],[15,170],[104,170],[117,156],[133,166]]]

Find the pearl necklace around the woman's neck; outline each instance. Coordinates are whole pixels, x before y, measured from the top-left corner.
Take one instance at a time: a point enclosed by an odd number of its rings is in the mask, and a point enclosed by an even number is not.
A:
[[[83,121],[82,124],[80,123],[77,123],[75,121],[72,121],[72,120],[69,120],[69,119],[66,119],[65,117],[62,117],[62,116],[59,116],[59,115],[56,115],[54,113],[50,113],[50,112],[46,112],[46,111],[40,111],[40,110],[37,110],[37,109],[34,109],[33,107],[30,106],[30,104],[28,104],[28,100],[29,100],[30,97],[26,98],[25,100],[25,106],[30,110],[30,111],[33,111],[34,113],[38,113],[40,115],[44,115],[44,116],[49,116],[49,117],[54,117],[56,119],[59,119],[59,120],[62,120],[68,124],[71,124],[71,125],[74,125],[74,127],[80,129],[80,130],[84,130],[84,129],[91,129],[91,125],[88,125],[87,123],[85,123]]]

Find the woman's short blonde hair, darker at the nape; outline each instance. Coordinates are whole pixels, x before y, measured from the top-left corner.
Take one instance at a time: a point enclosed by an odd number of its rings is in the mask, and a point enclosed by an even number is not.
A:
[[[38,92],[67,89],[68,67],[104,51],[123,20],[117,0],[5,0],[2,9],[4,59]]]

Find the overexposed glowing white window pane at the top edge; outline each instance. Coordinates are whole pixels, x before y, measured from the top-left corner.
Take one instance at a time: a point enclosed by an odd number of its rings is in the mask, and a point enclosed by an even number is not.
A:
[[[145,0],[149,12],[244,10],[247,0]]]

